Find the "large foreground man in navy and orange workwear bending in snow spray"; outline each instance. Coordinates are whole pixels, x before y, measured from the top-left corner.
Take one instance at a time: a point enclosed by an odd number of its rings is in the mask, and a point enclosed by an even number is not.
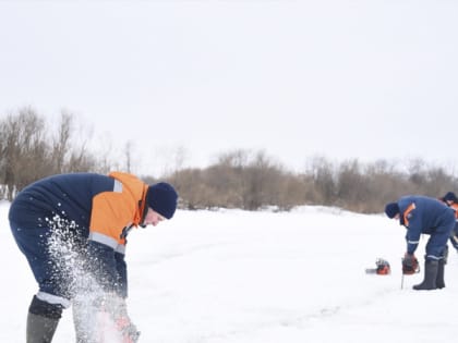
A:
[[[126,236],[132,229],[172,218],[177,199],[168,183],[147,185],[120,172],[52,175],[22,189],[9,220],[38,283],[26,342],[51,342],[71,304],[77,342],[93,342],[97,334],[93,308],[110,314],[126,342],[135,342],[138,332],[125,303]]]

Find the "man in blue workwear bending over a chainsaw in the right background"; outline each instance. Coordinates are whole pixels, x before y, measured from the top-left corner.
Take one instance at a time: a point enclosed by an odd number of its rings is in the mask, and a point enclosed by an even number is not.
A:
[[[445,287],[444,266],[448,237],[455,226],[455,212],[438,199],[409,195],[385,206],[388,218],[398,219],[407,229],[407,252],[402,260],[402,272],[414,269],[414,252],[420,243],[420,235],[430,235],[426,243],[424,280],[413,286],[414,290],[436,290]]]

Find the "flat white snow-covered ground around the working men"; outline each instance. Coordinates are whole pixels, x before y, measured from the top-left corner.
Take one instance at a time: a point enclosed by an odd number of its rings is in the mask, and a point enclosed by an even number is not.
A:
[[[24,342],[35,281],[0,203],[0,342]],[[383,215],[334,208],[292,212],[177,211],[131,232],[129,306],[152,343],[454,342],[458,255],[446,289],[417,292],[405,277],[405,229]],[[424,243],[417,256],[423,262]],[[390,275],[367,275],[383,257]],[[55,342],[72,342],[71,310]]]

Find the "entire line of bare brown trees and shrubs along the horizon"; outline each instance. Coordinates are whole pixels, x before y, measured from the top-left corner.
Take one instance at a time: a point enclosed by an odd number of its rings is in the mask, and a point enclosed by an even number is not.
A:
[[[27,184],[47,175],[71,172],[130,172],[107,154],[88,148],[88,137],[75,136],[74,117],[62,112],[51,130],[31,108],[0,121],[0,198],[11,200]],[[158,180],[138,175],[147,183]],[[362,213],[382,212],[384,205],[406,194],[439,197],[458,189],[454,170],[422,159],[362,163],[357,158],[330,162],[325,157],[306,160],[291,172],[265,151],[233,150],[219,155],[206,168],[177,168],[160,177],[172,183],[184,209],[240,208],[289,210],[301,205],[335,206]]]

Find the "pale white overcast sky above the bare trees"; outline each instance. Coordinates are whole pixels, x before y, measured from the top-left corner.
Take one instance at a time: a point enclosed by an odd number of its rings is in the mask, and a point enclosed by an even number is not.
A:
[[[0,0],[0,115],[62,109],[138,172],[264,149],[458,167],[458,1]]]

